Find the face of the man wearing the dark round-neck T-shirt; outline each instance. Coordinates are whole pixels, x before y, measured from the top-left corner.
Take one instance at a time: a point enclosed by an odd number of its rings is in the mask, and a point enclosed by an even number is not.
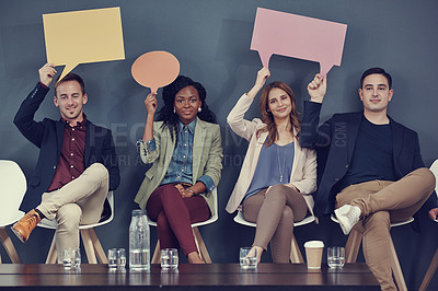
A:
[[[364,79],[362,88],[359,89],[365,113],[387,114],[387,107],[392,100],[393,93],[384,75],[380,73],[367,75]]]

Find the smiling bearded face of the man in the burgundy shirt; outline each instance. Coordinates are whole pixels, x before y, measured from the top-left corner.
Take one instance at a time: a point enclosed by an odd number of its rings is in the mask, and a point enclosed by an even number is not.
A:
[[[69,121],[70,126],[83,120],[83,104],[88,101],[82,93],[81,85],[77,81],[60,82],[54,97],[55,106],[59,107],[61,117]]]

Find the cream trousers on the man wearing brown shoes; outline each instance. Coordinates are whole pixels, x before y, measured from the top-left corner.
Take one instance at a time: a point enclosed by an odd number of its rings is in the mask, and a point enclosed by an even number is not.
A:
[[[36,209],[58,223],[56,249],[59,264],[65,248],[79,247],[79,225],[96,223],[101,219],[108,183],[106,167],[94,163],[58,190],[43,194],[42,203]]]

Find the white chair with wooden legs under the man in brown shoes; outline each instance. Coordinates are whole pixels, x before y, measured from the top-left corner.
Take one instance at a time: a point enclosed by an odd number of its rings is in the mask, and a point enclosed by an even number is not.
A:
[[[114,218],[114,197],[113,191],[108,191],[106,199],[110,202],[111,207],[111,217],[104,221],[94,223],[94,224],[87,224],[87,225],[79,225],[80,234],[82,237],[83,247],[85,248],[87,258],[89,264],[97,264],[97,259],[101,264],[108,264],[108,259],[106,257],[105,252],[103,251],[102,244],[97,238],[97,235],[94,232],[94,228],[102,226],[104,224],[110,223]],[[45,229],[56,230],[57,222],[56,220],[47,220],[43,219],[42,222],[38,223],[38,226]],[[56,252],[56,235],[51,241],[50,249],[48,251],[46,264],[57,264],[57,252]]]

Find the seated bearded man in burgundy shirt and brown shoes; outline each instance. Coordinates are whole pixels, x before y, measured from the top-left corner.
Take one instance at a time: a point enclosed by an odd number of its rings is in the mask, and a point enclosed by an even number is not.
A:
[[[55,83],[54,103],[61,118],[34,120],[56,74],[55,66],[46,63],[38,72],[39,82],[14,118],[22,135],[41,151],[20,207],[27,213],[12,230],[26,242],[42,219],[56,219],[60,261],[64,249],[79,247],[79,225],[99,222],[107,191],[117,188],[120,177],[111,130],[92,124],[83,113],[88,95],[78,74],[69,73]]]

